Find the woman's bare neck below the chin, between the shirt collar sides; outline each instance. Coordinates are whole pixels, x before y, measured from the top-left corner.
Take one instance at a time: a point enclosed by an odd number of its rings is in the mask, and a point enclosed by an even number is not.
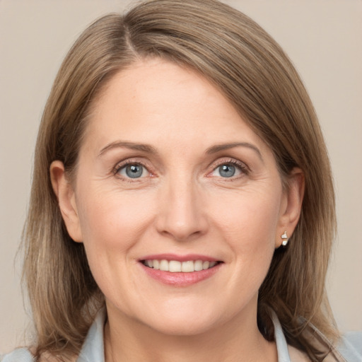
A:
[[[252,322],[252,325],[251,323]],[[276,362],[276,345],[262,337],[255,317],[239,316],[192,336],[158,332],[124,315],[105,325],[106,362]]]

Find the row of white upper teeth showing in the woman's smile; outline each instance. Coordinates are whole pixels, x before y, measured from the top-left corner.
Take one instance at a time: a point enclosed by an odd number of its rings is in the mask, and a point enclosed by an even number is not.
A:
[[[171,271],[177,273],[182,271],[183,273],[191,273],[192,271],[201,271],[215,267],[217,262],[203,262],[202,260],[187,260],[187,262],[178,262],[177,260],[158,260],[148,259],[144,261],[147,267],[158,269],[162,271]]]

